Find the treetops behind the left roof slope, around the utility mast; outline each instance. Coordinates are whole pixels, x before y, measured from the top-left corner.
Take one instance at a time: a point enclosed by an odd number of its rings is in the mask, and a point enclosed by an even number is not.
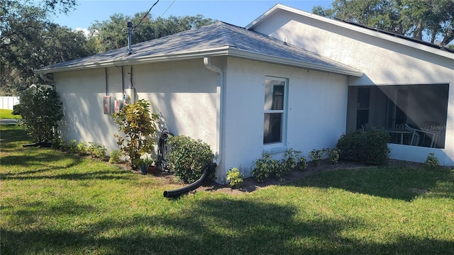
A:
[[[135,13],[134,16],[125,16],[115,13],[108,21],[95,21],[89,27],[89,45],[96,52],[106,52],[128,45],[127,23],[132,21],[134,26],[132,41],[133,44],[162,38],[184,30],[199,28],[214,22],[211,18],[204,16],[184,16],[169,18],[153,18],[151,14]],[[143,21],[140,23],[140,20]]]

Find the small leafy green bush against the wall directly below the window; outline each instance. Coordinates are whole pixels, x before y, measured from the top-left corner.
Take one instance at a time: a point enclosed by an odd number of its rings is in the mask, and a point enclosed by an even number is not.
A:
[[[262,183],[268,177],[275,175],[280,176],[280,165],[277,159],[272,159],[271,154],[263,153],[260,159],[256,159],[250,167],[250,174],[255,181]]]

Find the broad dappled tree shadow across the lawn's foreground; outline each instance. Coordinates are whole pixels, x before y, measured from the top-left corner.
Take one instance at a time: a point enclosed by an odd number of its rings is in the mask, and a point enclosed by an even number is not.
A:
[[[76,208],[76,214],[87,209],[70,204],[52,212],[68,207]],[[199,200],[179,213],[109,217],[73,230],[2,227],[1,254],[446,254],[454,250],[453,241],[429,237],[400,235],[386,243],[347,238],[345,232],[367,225],[349,218],[302,221],[296,214],[292,205]]]

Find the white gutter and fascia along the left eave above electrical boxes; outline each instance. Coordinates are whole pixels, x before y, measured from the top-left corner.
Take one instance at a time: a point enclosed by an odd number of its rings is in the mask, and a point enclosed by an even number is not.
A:
[[[133,53],[134,55],[134,53]],[[82,69],[95,69],[106,67],[120,67],[134,64],[150,64],[158,62],[170,62],[178,60],[193,60],[202,57],[216,57],[228,55],[228,46],[211,48],[209,50],[196,50],[187,52],[177,52],[175,54],[149,55],[143,57],[111,57],[109,60],[100,62],[88,62],[84,64],[75,64],[65,67],[51,67],[33,70],[35,74],[50,74],[56,72],[67,72]]]

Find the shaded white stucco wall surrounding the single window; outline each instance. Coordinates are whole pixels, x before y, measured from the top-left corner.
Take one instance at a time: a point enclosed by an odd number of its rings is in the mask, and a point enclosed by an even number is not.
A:
[[[280,159],[284,149],[334,147],[345,132],[347,80],[329,74],[229,57],[225,92],[224,169],[237,167],[246,176],[262,152]],[[287,142],[284,147],[263,146],[265,77],[288,79]],[[285,132],[285,130],[284,130]]]

